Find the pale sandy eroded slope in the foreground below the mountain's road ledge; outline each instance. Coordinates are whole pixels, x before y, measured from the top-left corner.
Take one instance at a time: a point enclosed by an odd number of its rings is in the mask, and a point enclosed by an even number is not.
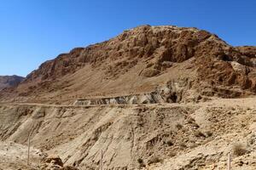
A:
[[[80,169],[97,169],[102,151],[107,169],[224,169],[227,154],[241,143],[247,154],[232,155],[232,166],[253,169],[255,114],[253,97],[168,105],[5,104],[0,137],[26,144],[34,129],[34,147]],[[162,162],[152,163],[154,157]]]

